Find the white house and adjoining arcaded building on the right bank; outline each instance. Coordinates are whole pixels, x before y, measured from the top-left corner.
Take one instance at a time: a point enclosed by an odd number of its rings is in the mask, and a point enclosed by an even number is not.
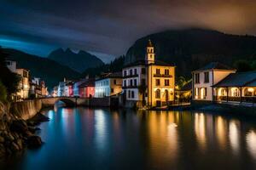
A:
[[[196,102],[255,102],[256,71],[236,72],[217,62],[192,72],[192,99]]]

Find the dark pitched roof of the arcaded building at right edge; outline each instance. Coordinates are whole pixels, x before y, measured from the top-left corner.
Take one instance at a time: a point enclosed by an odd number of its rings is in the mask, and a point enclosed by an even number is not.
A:
[[[256,86],[256,71],[231,73],[213,87],[245,87]]]

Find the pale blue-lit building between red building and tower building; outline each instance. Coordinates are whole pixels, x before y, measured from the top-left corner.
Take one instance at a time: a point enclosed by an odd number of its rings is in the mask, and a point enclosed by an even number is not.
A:
[[[102,75],[95,82],[95,97],[109,97],[122,92],[122,73],[114,72]]]

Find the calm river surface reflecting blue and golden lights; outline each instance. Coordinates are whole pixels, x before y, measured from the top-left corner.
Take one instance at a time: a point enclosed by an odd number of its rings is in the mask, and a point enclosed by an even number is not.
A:
[[[9,169],[256,169],[256,122],[190,111],[59,108]]]

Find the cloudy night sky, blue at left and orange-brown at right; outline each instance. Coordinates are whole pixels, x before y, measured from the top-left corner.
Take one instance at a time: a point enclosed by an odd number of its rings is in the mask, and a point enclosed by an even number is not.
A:
[[[186,27],[256,35],[256,1],[0,0],[0,45],[40,56],[69,47],[108,61],[139,37]]]

